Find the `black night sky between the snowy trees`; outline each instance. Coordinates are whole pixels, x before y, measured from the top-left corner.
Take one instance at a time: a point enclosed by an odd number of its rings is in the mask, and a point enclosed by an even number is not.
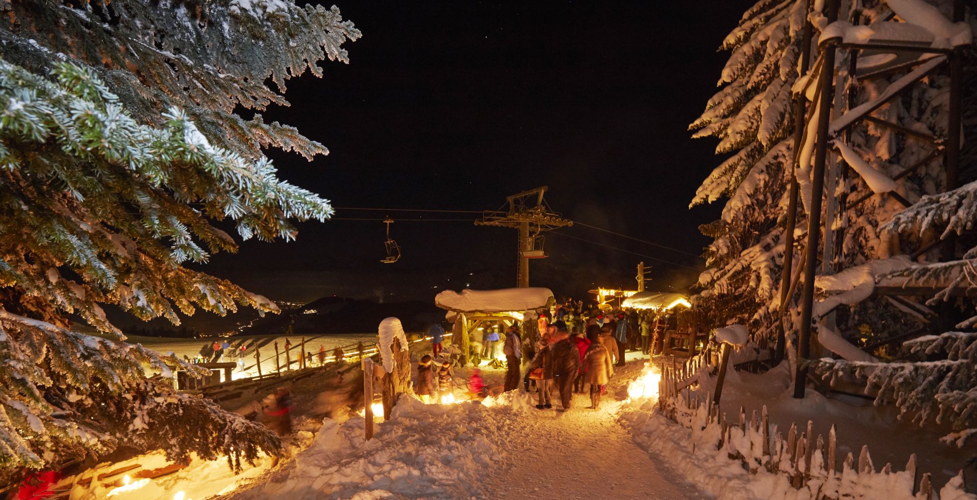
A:
[[[357,2],[339,4],[361,40],[351,63],[288,83],[291,107],[266,120],[297,126],[331,153],[312,163],[271,152],[282,178],[337,207],[486,210],[548,186],[553,210],[582,223],[695,255],[697,227],[718,207],[689,210],[718,164],[715,141],[686,130],[728,54],[716,48],[752,2]],[[328,4],[326,4],[328,5]],[[245,242],[205,271],[273,300],[327,295],[430,301],[444,288],[514,286],[516,230],[475,227],[474,215],[337,210],[397,222],[401,262],[381,264],[379,221],[299,226],[295,242]],[[604,232],[548,233],[531,284],[583,297],[594,284],[681,288],[701,260]]]

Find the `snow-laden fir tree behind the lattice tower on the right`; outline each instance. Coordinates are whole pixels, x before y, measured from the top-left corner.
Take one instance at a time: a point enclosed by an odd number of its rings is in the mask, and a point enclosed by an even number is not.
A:
[[[841,1],[838,19],[848,24],[829,25],[820,12],[826,4],[811,3],[810,14],[806,0],[761,0],[749,9],[723,42],[722,48],[732,51],[732,55],[721,74],[722,88],[691,125],[698,130],[695,137],[718,138],[717,153],[730,154],[693,199],[695,205],[728,198],[722,218],[701,227],[714,240],[706,249],[708,269],[700,278],[698,304],[711,310],[718,325],[743,322],[760,338],[772,339],[782,314],[788,318],[788,329],[799,326],[795,301],[800,287],[783,308],[779,304],[785,272],[787,191],[791,180],[796,179],[800,199],[797,247],[793,253],[795,269],[791,270],[794,272],[805,251],[811,198],[821,193],[811,191],[815,120],[806,121],[803,142],[796,146],[787,131],[792,130],[797,118],[793,116],[791,99],[803,94],[810,101],[824,77],[817,60],[819,37],[827,30],[844,30],[851,25],[856,26],[851,28],[853,32],[862,29],[861,33],[866,34],[896,22],[913,24],[916,32],[932,31],[925,27],[927,21],[920,13],[936,13],[944,18],[950,18],[952,13],[949,0]],[[796,62],[806,19],[814,30],[812,64],[805,74],[799,74]],[[968,20],[970,27],[949,21],[947,25],[964,34],[966,41],[972,41],[973,18]],[[890,24],[883,25],[885,22]],[[939,40],[940,33],[930,34],[934,44],[951,46],[949,39]],[[913,67],[905,67],[882,77],[852,78],[847,74],[850,62],[849,51],[838,51],[835,83],[840,85],[835,87],[835,120],[898,88],[913,71]],[[917,67],[938,66],[941,62],[937,57]],[[977,177],[977,141],[973,139],[977,137],[977,117],[972,106],[967,106],[977,99],[975,73],[977,62],[967,56],[960,165],[963,183]],[[919,134],[945,137],[948,94],[948,71],[937,70],[915,83],[909,92],[872,111],[871,116]],[[808,105],[808,117],[814,114],[812,108],[816,105]],[[925,333],[925,329],[933,328],[932,319],[943,301],[970,311],[964,317],[977,316],[972,299],[964,297],[972,297],[972,293],[961,293],[961,289],[972,291],[977,286],[977,240],[970,232],[977,214],[971,206],[977,199],[977,185],[964,184],[948,191],[940,149],[877,122],[859,122],[847,135],[835,135],[830,146],[840,156],[841,170],[838,185],[833,189],[826,187],[826,195],[862,201],[841,205],[843,208],[835,211],[833,217],[828,217],[827,204],[822,209],[822,227],[830,225],[835,236],[829,264],[833,271],[840,272],[819,271],[814,316],[818,320],[828,312],[836,312],[836,326],[817,325],[818,340],[828,348],[828,354],[847,360],[822,361],[816,369],[826,377],[860,378],[879,402],[899,405],[904,415],[920,423],[950,420],[959,430],[956,438],[965,438],[973,434],[967,429],[977,427],[973,334],[948,332],[922,337],[903,348],[895,343],[887,350],[874,352],[883,358],[909,361],[901,363],[878,361],[858,347],[914,331]],[[905,171],[910,172],[903,175]],[[962,258],[940,262],[940,240],[950,235],[956,236],[956,256]],[[878,284],[929,286],[943,291],[932,297],[894,300],[872,294]],[[972,317],[956,327],[968,329],[975,323],[977,318]],[[936,414],[940,417],[934,417]]]

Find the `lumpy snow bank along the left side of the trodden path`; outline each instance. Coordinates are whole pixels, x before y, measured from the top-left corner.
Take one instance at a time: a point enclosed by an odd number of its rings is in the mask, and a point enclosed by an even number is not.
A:
[[[518,392],[498,396],[489,407],[479,401],[424,404],[402,396],[391,420],[377,424],[370,440],[363,439],[362,418],[342,425],[326,419],[287,476],[232,498],[479,497],[486,475],[511,454],[492,438],[513,432],[499,416],[529,407],[529,397]]]

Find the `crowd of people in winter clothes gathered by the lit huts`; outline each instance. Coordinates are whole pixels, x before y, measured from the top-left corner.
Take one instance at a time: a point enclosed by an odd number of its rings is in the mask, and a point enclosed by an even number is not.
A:
[[[502,391],[519,389],[522,379],[523,390],[537,397],[536,408],[553,408],[553,399],[558,398],[559,409],[566,410],[571,407],[573,394],[589,393],[589,408],[598,409],[615,367],[624,365],[625,354],[657,352],[660,346],[655,346],[655,334],[671,326],[673,319],[653,312],[601,309],[596,305],[585,309],[582,301],[569,299],[538,311],[535,332],[522,332],[518,324],[504,323],[476,329],[470,339],[469,355],[493,362],[504,356],[506,376]],[[440,324],[432,325],[428,336],[432,339],[432,355],[424,355],[418,363],[414,388],[423,400],[441,402],[453,391],[452,363],[439,357],[445,329]],[[474,397],[487,394],[477,368],[469,379],[468,390]]]

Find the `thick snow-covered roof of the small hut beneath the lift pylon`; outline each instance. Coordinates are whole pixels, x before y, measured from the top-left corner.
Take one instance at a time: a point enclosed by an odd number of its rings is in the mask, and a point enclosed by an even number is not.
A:
[[[551,298],[553,292],[549,288],[465,289],[460,293],[445,290],[435,296],[434,302],[451,312],[521,312],[545,307]]]

